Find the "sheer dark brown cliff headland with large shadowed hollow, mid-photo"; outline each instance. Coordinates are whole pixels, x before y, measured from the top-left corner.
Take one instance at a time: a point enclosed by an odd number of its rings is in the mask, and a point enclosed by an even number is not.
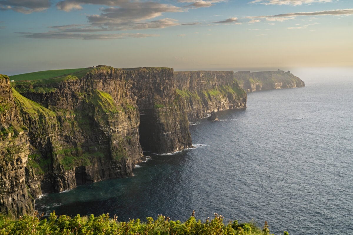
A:
[[[140,112],[140,143],[145,151],[172,152],[190,148],[189,121],[177,99],[173,69],[126,70]]]

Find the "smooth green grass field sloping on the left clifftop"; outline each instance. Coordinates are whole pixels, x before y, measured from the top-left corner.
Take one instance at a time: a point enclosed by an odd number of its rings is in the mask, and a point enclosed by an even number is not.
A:
[[[80,74],[81,72],[87,73],[90,69],[79,68],[79,69],[58,69],[58,70],[46,70],[34,73],[25,73],[10,76],[10,80],[22,81],[22,80],[42,80],[50,78],[58,78],[66,75]]]

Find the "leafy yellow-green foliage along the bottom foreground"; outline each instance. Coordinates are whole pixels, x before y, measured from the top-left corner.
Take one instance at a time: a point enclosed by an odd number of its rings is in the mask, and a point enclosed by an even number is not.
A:
[[[193,214],[194,215],[194,214]],[[268,235],[269,228],[267,222],[263,229],[258,228],[252,221],[250,223],[238,224],[238,221],[229,221],[223,224],[223,216],[215,214],[213,219],[205,222],[196,220],[191,216],[185,223],[169,220],[169,217],[158,215],[154,220],[146,218],[146,222],[140,219],[131,219],[129,222],[119,222],[117,217],[109,217],[109,214],[94,217],[77,215],[73,218],[66,215],[56,216],[55,211],[48,219],[40,220],[37,216],[25,215],[18,220],[8,219],[5,216],[0,218],[0,234],[14,235],[44,235],[44,234],[156,234],[156,235],[176,235],[176,234],[209,234],[209,235]],[[288,235],[285,232],[285,235]]]

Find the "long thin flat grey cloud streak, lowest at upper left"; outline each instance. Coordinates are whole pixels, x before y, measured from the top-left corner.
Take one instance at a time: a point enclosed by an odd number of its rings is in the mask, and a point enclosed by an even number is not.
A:
[[[145,38],[158,37],[157,34],[144,33],[112,33],[112,34],[88,34],[88,33],[62,33],[62,32],[45,32],[45,33],[29,33],[17,32],[26,38],[41,38],[41,39],[84,39],[84,40],[108,40],[108,39],[123,39],[123,38]]]

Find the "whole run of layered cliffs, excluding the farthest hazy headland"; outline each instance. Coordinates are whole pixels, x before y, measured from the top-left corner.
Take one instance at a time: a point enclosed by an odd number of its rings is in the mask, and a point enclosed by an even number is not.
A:
[[[143,151],[190,148],[189,119],[246,107],[232,71],[67,71],[0,75],[1,212],[33,214],[42,193],[130,177]]]

